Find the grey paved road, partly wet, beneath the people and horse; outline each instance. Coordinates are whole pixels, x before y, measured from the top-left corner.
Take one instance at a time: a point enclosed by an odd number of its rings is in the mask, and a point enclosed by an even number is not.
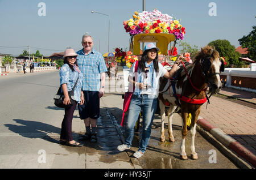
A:
[[[82,148],[59,145],[64,112],[52,100],[59,87],[58,71],[0,78],[0,87],[0,143],[4,144],[0,147],[0,168],[237,168],[198,132],[199,160],[179,160],[181,121],[178,116],[173,126],[175,143],[159,142],[160,119],[156,116],[148,150],[142,158],[131,156],[137,151],[139,134],[135,135],[130,151],[118,152],[116,147],[122,143],[122,135],[117,131],[123,102],[120,93],[106,93],[101,98],[98,143],[82,142]],[[77,139],[84,133],[84,123],[77,110],[72,126],[73,137]],[[216,163],[209,163],[212,149],[216,151]],[[41,163],[44,153],[46,163]]]

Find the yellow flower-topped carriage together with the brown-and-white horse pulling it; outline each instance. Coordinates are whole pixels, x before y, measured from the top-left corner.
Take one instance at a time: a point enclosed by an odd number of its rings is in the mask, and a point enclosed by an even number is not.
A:
[[[144,22],[143,22],[143,20]],[[145,22],[145,20],[151,21]],[[172,17],[163,15],[159,11],[142,12],[138,14],[135,12],[133,19],[123,23],[126,32],[130,33],[130,50],[135,55],[140,55],[141,43],[155,42],[159,50],[159,62],[164,67],[170,68],[172,66],[172,54],[176,45],[176,41],[183,40],[185,28],[183,28],[178,20],[172,20]],[[173,47],[171,43],[174,42]],[[168,50],[171,51],[171,57],[167,55]],[[172,47],[172,48],[171,48]],[[162,119],[162,130],[160,140],[164,142],[164,118],[165,111],[168,109],[168,133],[169,140],[174,142],[172,135],[172,115],[179,113],[183,121],[182,127],[182,140],[180,145],[180,157],[187,159],[185,153],[185,136],[188,131],[188,124],[191,126],[191,157],[197,159],[195,152],[195,134],[196,134],[196,121],[200,114],[201,105],[207,102],[208,96],[206,93],[209,87],[211,94],[216,94],[220,91],[222,84],[220,81],[220,72],[224,71],[224,62],[220,60],[220,55],[214,48],[205,46],[196,55],[193,63],[185,65],[181,62],[180,68],[177,70],[174,81],[170,79],[160,79],[159,87],[159,108],[160,117]],[[123,78],[125,81],[125,91],[128,91],[128,75],[129,68],[123,68]],[[166,105],[166,102],[169,105]],[[135,129],[138,130],[139,119]]]

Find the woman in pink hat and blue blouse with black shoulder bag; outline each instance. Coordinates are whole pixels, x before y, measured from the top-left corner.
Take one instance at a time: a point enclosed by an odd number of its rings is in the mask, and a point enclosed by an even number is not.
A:
[[[76,109],[76,104],[84,104],[84,95],[81,91],[83,76],[79,70],[79,66],[77,65],[77,54],[73,49],[66,49],[63,57],[64,65],[60,68],[60,85],[61,91],[65,96],[63,102],[65,105],[71,104],[68,91],[72,90],[76,81],[77,84],[75,87],[74,96],[72,97],[72,99],[75,100],[75,103],[73,103],[71,107],[65,108],[65,115],[63,122],[61,123],[60,144],[72,147],[81,147],[82,145],[80,143],[73,140],[72,119]]]

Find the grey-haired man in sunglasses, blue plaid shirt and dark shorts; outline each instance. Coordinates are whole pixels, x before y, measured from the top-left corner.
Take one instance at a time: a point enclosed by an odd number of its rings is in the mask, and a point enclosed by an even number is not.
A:
[[[102,54],[93,49],[92,36],[82,36],[82,46],[83,49],[76,52],[77,63],[84,75],[82,91],[85,102],[79,105],[79,115],[84,119],[86,132],[80,140],[97,142],[96,124],[100,117],[100,98],[104,96],[105,72],[108,69]]]

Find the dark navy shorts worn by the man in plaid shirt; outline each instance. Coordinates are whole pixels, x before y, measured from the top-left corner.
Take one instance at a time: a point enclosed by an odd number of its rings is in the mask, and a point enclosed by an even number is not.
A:
[[[84,104],[79,107],[80,119],[92,118],[97,119],[100,117],[100,98],[98,91],[82,91],[84,92]]]

